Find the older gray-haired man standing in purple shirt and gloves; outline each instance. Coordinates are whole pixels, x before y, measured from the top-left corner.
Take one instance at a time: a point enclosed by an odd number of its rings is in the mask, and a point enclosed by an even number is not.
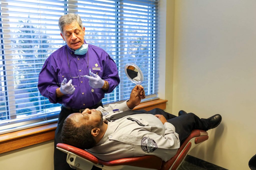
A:
[[[55,131],[54,169],[70,169],[63,161],[65,153],[56,149],[61,141],[64,120],[71,113],[102,106],[105,93],[120,83],[114,60],[106,51],[84,40],[85,28],[80,16],[59,18],[60,35],[67,43],[53,52],[39,74],[38,89],[51,103],[62,104]]]

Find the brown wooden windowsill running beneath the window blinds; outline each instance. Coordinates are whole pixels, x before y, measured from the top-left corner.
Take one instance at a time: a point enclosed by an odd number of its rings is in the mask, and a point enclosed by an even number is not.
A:
[[[152,110],[154,108],[165,109],[168,100],[157,99],[140,103],[133,110]],[[0,153],[12,151],[36,143],[54,139],[57,123],[31,127],[0,135]]]

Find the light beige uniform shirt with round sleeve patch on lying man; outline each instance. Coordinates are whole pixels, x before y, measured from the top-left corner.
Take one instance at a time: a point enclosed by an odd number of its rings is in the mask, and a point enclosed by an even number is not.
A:
[[[125,108],[125,104],[121,103],[121,106]],[[105,117],[116,113],[108,113]],[[151,114],[135,114],[108,122],[103,138],[87,151],[106,161],[143,155],[156,155],[167,161],[176,154],[179,147],[179,136],[172,124],[166,122],[163,125]]]

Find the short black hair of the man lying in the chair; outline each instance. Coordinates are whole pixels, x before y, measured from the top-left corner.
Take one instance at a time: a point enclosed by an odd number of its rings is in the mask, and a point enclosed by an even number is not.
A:
[[[94,127],[90,125],[77,127],[70,118],[67,118],[63,123],[61,140],[65,144],[80,149],[90,149],[96,145],[96,141],[91,135],[93,128]]]

